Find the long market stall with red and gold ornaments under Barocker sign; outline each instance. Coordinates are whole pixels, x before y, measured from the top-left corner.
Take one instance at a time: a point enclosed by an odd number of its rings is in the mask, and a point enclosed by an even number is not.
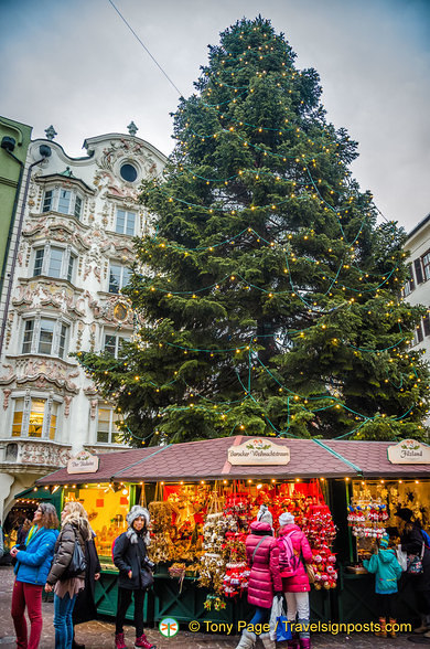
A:
[[[420,493],[417,508],[428,508],[427,483],[420,490],[416,480],[428,479],[429,465],[393,465],[389,446],[236,436],[101,455],[94,472],[62,469],[37,485],[62,489],[65,501],[79,500],[88,511],[104,567],[100,613],[116,609],[111,544],[126,529],[130,507],[140,502],[151,513],[157,563],[147,620],[247,619],[245,538],[260,504],[268,504],[275,528],[279,514],[290,511],[311,542],[312,619],[368,621],[374,587],[359,570],[365,551],[391,522],[386,517],[396,497],[401,504],[410,499],[412,483]],[[353,524],[362,501],[367,519]],[[372,534],[362,534],[370,521]]]

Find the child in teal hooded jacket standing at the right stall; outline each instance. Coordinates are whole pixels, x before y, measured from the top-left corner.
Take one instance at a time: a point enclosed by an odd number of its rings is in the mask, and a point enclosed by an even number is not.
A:
[[[388,534],[385,534],[379,541],[379,551],[373,554],[368,561],[365,560],[363,565],[367,572],[375,573],[375,593],[378,599],[380,626],[380,631],[375,635],[386,638],[388,631],[391,638],[395,638],[395,602],[396,593],[398,592],[397,579],[401,576],[401,566],[397,561],[395,550],[388,545],[390,545],[389,538]],[[388,629],[387,618],[389,620]]]

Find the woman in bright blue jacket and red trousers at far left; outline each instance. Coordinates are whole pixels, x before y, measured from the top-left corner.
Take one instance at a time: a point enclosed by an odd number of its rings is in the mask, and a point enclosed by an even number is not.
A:
[[[15,545],[11,555],[17,558],[15,583],[12,593],[12,618],[17,634],[17,649],[37,649],[42,635],[42,589],[51,568],[54,545],[58,535],[55,507],[42,502],[34,512],[33,525],[25,539],[25,550]],[[28,639],[25,606],[30,618]]]

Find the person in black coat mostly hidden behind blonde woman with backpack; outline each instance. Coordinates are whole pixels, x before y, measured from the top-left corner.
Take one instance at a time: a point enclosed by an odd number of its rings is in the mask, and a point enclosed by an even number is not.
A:
[[[85,571],[85,588],[78,593],[76,604],[73,609],[73,643],[72,649],[85,649],[85,645],[79,645],[75,639],[75,626],[89,621],[97,617],[97,607],[95,603],[96,582],[100,577],[101,566],[98,560],[96,544],[93,539],[85,543],[85,558],[87,567]]]

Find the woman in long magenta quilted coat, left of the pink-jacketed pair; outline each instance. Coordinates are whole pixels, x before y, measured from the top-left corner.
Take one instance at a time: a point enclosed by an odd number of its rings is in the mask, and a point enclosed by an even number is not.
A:
[[[272,517],[266,506],[261,506],[257,520],[250,525],[250,534],[246,539],[246,555],[250,574],[248,579],[248,602],[256,607],[248,627],[268,624],[273,595],[282,593],[282,579],[279,572],[279,549],[273,538]],[[260,636],[264,646],[268,634]],[[251,649],[257,635],[244,629],[236,649]]]

